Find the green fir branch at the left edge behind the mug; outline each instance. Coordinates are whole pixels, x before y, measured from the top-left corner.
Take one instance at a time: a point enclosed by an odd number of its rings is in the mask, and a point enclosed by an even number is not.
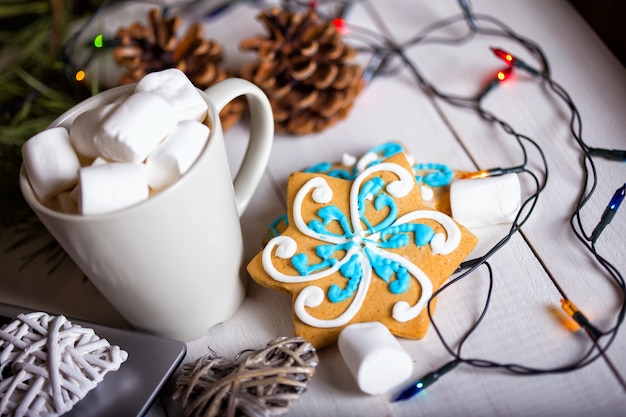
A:
[[[62,40],[68,25],[93,14],[99,3],[2,0],[0,4],[0,226],[19,225],[20,239],[9,250],[35,247],[23,259],[24,265],[44,257],[54,269],[66,257],[21,195],[21,146],[78,101],[66,77]]]

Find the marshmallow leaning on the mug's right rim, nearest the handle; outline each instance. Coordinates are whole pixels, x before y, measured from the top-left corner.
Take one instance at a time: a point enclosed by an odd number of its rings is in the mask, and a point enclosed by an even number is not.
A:
[[[200,155],[209,138],[207,125],[196,121],[178,123],[176,129],[148,156],[148,185],[160,191],[180,178]]]

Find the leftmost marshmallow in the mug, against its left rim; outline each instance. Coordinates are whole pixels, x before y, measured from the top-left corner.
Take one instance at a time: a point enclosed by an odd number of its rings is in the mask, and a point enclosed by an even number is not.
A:
[[[46,129],[22,146],[22,159],[33,191],[43,202],[69,190],[78,180],[80,161],[67,129]]]

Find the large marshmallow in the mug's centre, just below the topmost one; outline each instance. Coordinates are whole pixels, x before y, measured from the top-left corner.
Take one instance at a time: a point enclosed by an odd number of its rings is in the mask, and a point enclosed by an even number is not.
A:
[[[140,163],[175,127],[174,111],[163,97],[134,93],[109,112],[94,144],[107,159]]]

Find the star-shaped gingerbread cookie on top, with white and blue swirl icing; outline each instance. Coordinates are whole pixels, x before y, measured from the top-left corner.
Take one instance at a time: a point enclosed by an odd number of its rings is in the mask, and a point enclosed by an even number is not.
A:
[[[297,172],[288,224],[248,265],[259,284],[292,296],[297,336],[322,348],[347,325],[379,321],[420,339],[425,307],[477,239],[426,207],[405,154],[353,180]]]

